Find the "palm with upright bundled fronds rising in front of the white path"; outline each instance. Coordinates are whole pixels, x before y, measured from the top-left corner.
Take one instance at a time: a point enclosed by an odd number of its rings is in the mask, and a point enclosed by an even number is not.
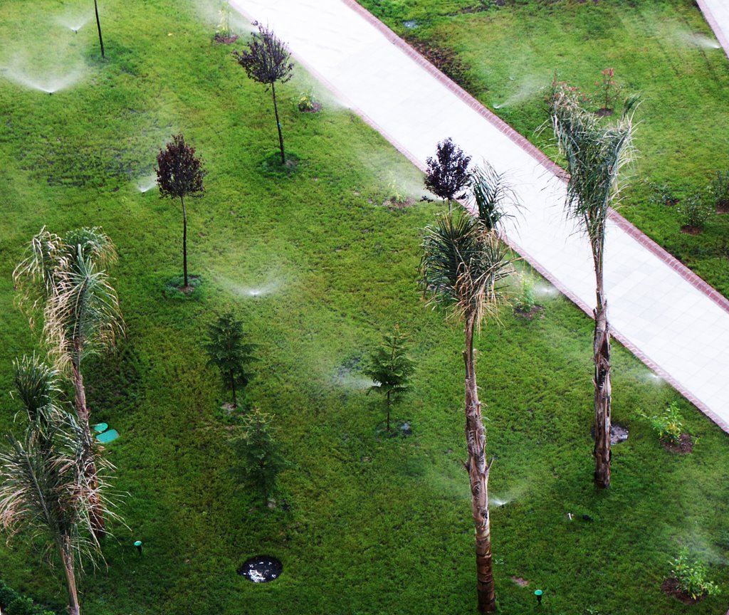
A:
[[[625,101],[616,125],[605,128],[590,111],[582,109],[574,89],[555,84],[550,121],[557,144],[567,162],[569,181],[566,214],[580,224],[590,240],[595,267],[597,306],[593,360],[595,374],[595,484],[610,485],[610,328],[603,280],[605,228],[610,205],[619,195],[618,174],[632,153],[633,112],[638,98]]]

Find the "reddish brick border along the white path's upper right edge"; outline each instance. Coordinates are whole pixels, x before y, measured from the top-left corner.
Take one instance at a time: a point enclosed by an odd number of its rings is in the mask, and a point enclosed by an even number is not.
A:
[[[551,171],[552,173],[554,173],[554,175],[557,176],[559,179],[566,181],[566,171],[564,171],[564,168],[561,168],[561,166],[559,166],[556,162],[547,157],[547,155],[542,152],[542,150],[537,148],[537,146],[532,144],[531,141],[529,141],[526,137],[522,136],[520,133],[514,130],[510,125],[504,122],[504,120],[494,114],[491,110],[483,106],[482,103],[477,101],[476,98],[470,95],[461,86],[446,77],[428,60],[426,60],[422,55],[414,50],[413,47],[410,47],[407,42],[397,36],[397,34],[395,34],[390,28],[388,28],[384,23],[378,20],[377,17],[375,17],[367,9],[362,7],[362,5],[358,4],[356,0],[342,1],[359,15],[364,17],[364,19],[367,20],[368,23],[377,28],[377,30],[380,31],[381,34],[383,34],[383,36],[385,36],[385,38],[389,40],[389,42],[402,50],[405,55],[408,55],[408,57],[414,60],[419,66],[421,66],[421,68],[424,68],[430,75],[432,75],[432,77],[435,77],[435,79],[437,79],[441,83],[441,85],[447,87],[448,90],[451,91],[451,93],[458,96],[461,101],[464,101],[464,103],[467,103],[467,105],[471,109],[476,111],[477,114],[480,114],[481,117],[488,120],[488,122],[491,123],[494,128],[499,130],[499,132],[504,133],[504,135],[510,138],[513,143],[517,144],[521,147],[521,149],[529,153],[531,157],[534,158],[534,160],[542,165],[542,167],[546,168],[547,171]],[[702,0],[698,1],[701,2]],[[367,123],[370,123],[370,125],[373,124],[373,122],[369,120]],[[380,129],[378,128],[378,130]],[[382,132],[382,130],[380,130],[380,132]],[[391,141],[389,137],[388,140]],[[402,149],[397,146],[397,144],[395,144],[393,141],[391,142],[397,147],[397,149],[400,149],[400,151],[402,151]],[[410,160],[413,160],[413,157],[409,154],[409,152],[407,155]],[[419,168],[423,168],[423,165],[421,163],[418,163],[417,165]],[[609,215],[610,219],[612,219],[612,221],[615,222],[621,230],[625,231],[631,238],[636,240],[644,248],[650,251],[651,254],[658,257],[660,261],[668,265],[668,267],[671,267],[672,270],[678,273],[678,275],[680,275],[681,278],[683,278],[685,281],[690,283],[691,286],[693,286],[698,291],[701,291],[701,293],[706,295],[706,297],[709,297],[709,299],[712,299],[712,301],[719,305],[722,310],[725,310],[725,312],[729,313],[729,299],[727,297],[724,297],[719,291],[710,286],[709,283],[706,283],[706,281],[704,281],[692,270],[686,267],[686,265],[679,261],[679,259],[677,259],[672,254],[669,254],[668,251],[659,246],[658,243],[655,243],[654,240],[652,240],[644,232],[639,230],[634,224],[628,222],[627,219],[618,214],[617,211],[610,210]],[[592,312],[590,311],[589,313],[590,316],[592,316]]]

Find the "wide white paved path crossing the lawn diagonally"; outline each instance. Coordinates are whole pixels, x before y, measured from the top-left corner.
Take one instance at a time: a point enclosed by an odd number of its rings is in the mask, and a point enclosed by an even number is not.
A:
[[[710,1],[710,0],[704,0]],[[727,0],[714,0],[723,4]],[[295,58],[423,168],[453,138],[507,171],[526,205],[510,243],[588,314],[588,243],[564,220],[558,169],[410,50],[354,0],[233,0],[268,23]],[[606,288],[615,337],[729,431],[729,302],[620,216],[607,233]]]

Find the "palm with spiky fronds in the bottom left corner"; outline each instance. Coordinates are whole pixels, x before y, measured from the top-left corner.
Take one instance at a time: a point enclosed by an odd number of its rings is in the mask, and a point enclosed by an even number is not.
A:
[[[0,447],[0,528],[28,530],[47,555],[55,552],[66,576],[69,613],[79,614],[77,573],[99,553],[93,509],[109,511],[97,468],[109,469],[87,431],[58,403],[58,373],[33,357],[15,363],[17,393],[28,413],[23,439]],[[89,454],[91,451],[91,454]]]

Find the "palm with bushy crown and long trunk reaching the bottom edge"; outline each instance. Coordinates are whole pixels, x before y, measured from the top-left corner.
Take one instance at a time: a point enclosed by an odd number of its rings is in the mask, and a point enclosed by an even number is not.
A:
[[[511,273],[511,260],[496,235],[485,232],[464,213],[447,214],[426,228],[421,247],[421,286],[429,302],[443,305],[452,318],[464,323],[466,468],[476,528],[478,610],[486,613],[496,609],[488,515],[488,474],[493,461],[486,462],[473,337],[484,322],[498,318],[499,306],[506,302],[503,282]]]

